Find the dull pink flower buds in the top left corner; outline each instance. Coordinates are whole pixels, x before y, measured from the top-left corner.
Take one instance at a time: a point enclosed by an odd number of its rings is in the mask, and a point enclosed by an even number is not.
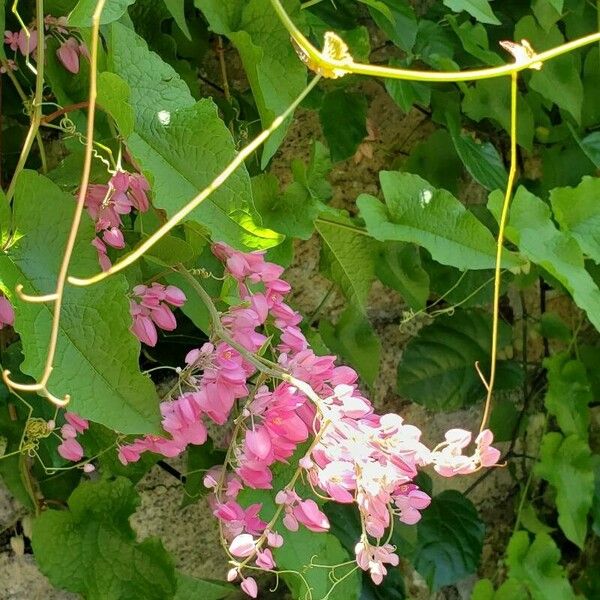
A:
[[[56,38],[60,46],[56,56],[62,65],[70,73],[79,73],[79,57],[83,56],[89,60],[89,53],[85,43],[78,37],[71,27],[67,25],[67,17],[53,17],[47,15],[44,18],[46,34]],[[29,34],[29,35],[28,35]],[[16,53],[18,50],[23,56],[32,54],[38,45],[38,32],[34,26],[27,31],[5,31],[4,43]],[[11,68],[16,69],[14,61]],[[14,66],[13,66],[14,65]]]

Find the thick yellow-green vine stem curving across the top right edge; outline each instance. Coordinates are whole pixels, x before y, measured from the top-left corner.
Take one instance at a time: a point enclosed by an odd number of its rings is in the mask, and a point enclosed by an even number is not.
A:
[[[524,71],[532,68],[537,63],[543,63],[551,58],[561,56],[582,46],[587,46],[594,42],[600,42],[600,32],[592,33],[585,37],[567,42],[556,48],[551,48],[540,54],[534,54],[531,57],[519,59],[512,64],[502,65],[501,67],[490,67],[487,69],[472,69],[467,71],[419,71],[412,69],[397,69],[392,67],[381,67],[365,63],[357,63],[353,60],[335,60],[317,50],[302,32],[296,27],[290,16],[281,4],[281,0],[271,0],[271,5],[277,13],[284,27],[300,47],[307,58],[321,68],[324,72],[341,70],[345,73],[354,73],[357,75],[369,75],[371,77],[383,77],[386,79],[403,79],[405,81],[428,81],[428,82],[446,82],[458,83],[461,81],[475,81],[479,79],[493,79],[511,75],[512,73]]]

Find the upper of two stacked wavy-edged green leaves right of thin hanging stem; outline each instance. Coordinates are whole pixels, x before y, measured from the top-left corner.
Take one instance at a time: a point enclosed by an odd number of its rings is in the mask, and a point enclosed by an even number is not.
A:
[[[548,391],[544,398],[548,412],[556,417],[566,436],[576,434],[587,440],[590,425],[588,405],[594,397],[585,365],[561,352],[545,359],[544,367],[548,371]]]

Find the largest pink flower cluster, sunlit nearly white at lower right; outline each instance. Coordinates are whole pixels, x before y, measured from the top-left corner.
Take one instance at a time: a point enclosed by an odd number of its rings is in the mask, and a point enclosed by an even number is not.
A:
[[[260,569],[276,567],[273,549],[283,543],[275,530],[279,522],[289,531],[300,525],[314,532],[329,529],[319,504],[297,493],[295,483],[302,477],[318,497],[357,506],[363,535],[356,562],[380,583],[385,565],[398,564],[394,548],[382,541],[392,518],[416,523],[430,503],[413,482],[418,469],[433,465],[452,476],[492,466],[500,456],[491,447],[492,434],[486,430],[477,437],[472,456],[463,455],[471,434],[458,429],[429,450],[417,427],[374,411],[353,369],[314,353],[299,327],[300,315],[285,302],[290,286],[281,279],[281,267],[266,262],[261,252],[241,253],[225,244],[215,244],[213,252],[235,280],[239,303],[220,316],[215,339],[187,355],[180,373],[181,389],[187,391],[161,403],[169,437],[146,436],[124,445],[121,461],[134,462],[144,451],[175,456],[188,444],[202,444],[206,419],[226,423],[236,401],[243,400],[228,464],[204,479],[232,557],[228,579],[241,578],[242,589],[256,597],[256,582],[243,569],[250,560]],[[277,362],[260,358],[265,351]],[[250,384],[261,365],[268,376]],[[244,487],[271,489],[273,466],[289,462],[303,443],[310,446],[296,477],[275,490],[277,510],[270,522],[261,518],[260,504],[238,502]]]

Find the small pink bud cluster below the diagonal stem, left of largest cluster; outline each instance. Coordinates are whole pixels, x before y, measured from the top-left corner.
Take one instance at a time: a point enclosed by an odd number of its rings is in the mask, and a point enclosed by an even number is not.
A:
[[[164,286],[156,282],[149,287],[136,285],[133,293],[137,301],[130,300],[129,303],[133,317],[131,332],[144,344],[156,346],[157,327],[165,331],[173,331],[177,327],[175,315],[169,305],[183,306],[186,301],[185,294],[174,285]]]

